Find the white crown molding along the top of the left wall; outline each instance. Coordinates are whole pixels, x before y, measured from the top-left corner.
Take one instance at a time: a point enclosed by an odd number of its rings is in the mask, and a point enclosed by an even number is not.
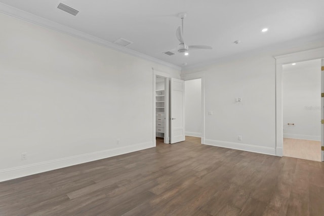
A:
[[[161,64],[161,65],[165,65],[165,66],[168,66],[168,67],[171,67],[171,68],[174,68],[174,69],[181,70],[181,67],[177,66],[175,64],[159,60],[157,58],[154,58],[154,57],[151,57],[149,55],[137,52],[135,50],[131,50],[131,49],[126,48],[126,47],[121,47],[121,46],[116,45],[116,44],[114,44],[112,42],[105,41],[103,39],[97,38],[97,37],[95,37],[95,36],[93,36],[91,34],[83,32],[83,31],[79,31],[79,30],[76,30],[74,28],[70,28],[68,26],[59,24],[57,22],[53,22],[51,20],[48,20],[48,19],[45,19],[45,18],[42,18],[42,17],[39,17],[39,16],[36,16],[34,14],[28,13],[26,11],[22,11],[20,9],[14,8],[12,6],[9,6],[9,5],[6,5],[6,4],[3,4],[3,3],[0,3],[0,12],[3,13],[3,14],[7,14],[9,16],[13,16],[13,17],[16,17],[18,19],[21,19],[21,20],[36,24],[36,25],[40,25],[40,26],[45,27],[45,28],[49,28],[49,29],[52,29],[52,30],[55,30],[55,31],[58,31],[58,32],[61,32],[61,33],[68,34],[68,35],[73,36],[73,37],[78,38],[78,39],[82,39],[82,40],[89,41],[89,42],[92,42],[92,43],[95,43],[95,44],[99,44],[99,45],[107,47],[109,49],[120,51],[120,52],[129,54],[129,55],[132,55],[132,56],[136,56],[136,57],[139,57],[139,58],[142,58],[142,59],[145,59],[145,60],[149,60],[149,61]]]

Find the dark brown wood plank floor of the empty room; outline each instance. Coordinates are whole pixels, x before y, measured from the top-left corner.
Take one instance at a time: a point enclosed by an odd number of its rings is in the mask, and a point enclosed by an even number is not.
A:
[[[324,215],[324,165],[197,138],[0,183],[0,215]]]

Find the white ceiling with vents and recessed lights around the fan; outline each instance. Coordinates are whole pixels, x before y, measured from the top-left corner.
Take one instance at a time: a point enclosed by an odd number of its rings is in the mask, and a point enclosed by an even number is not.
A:
[[[59,3],[78,11],[72,16]],[[0,3],[94,35],[108,42],[132,41],[128,48],[183,66],[210,62],[249,50],[313,35],[324,37],[323,0],[0,0]],[[213,50],[191,50],[189,56],[161,52],[176,47],[177,15],[188,14],[184,39],[188,45]],[[265,33],[261,29],[268,28]],[[233,42],[240,40],[240,44]]]

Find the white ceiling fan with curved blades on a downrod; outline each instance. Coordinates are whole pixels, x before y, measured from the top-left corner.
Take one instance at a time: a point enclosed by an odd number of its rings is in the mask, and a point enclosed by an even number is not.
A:
[[[189,45],[188,46],[184,43],[183,20],[186,16],[187,16],[186,13],[181,13],[178,15],[178,17],[181,18],[181,26],[179,26],[177,28],[176,36],[177,36],[177,39],[179,40],[180,44],[175,49],[172,49],[171,51],[178,51],[179,53],[184,53],[185,55],[188,55],[189,50],[211,50],[211,49],[213,49],[210,46],[205,46],[205,45]]]

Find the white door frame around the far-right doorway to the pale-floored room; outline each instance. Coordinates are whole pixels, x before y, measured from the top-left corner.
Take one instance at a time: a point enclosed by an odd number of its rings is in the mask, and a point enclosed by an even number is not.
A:
[[[275,125],[276,125],[276,148],[275,154],[282,156],[283,144],[283,120],[282,120],[282,65],[300,61],[308,61],[324,58],[324,47],[306,50],[302,52],[290,53],[286,55],[274,56],[275,59]],[[319,68],[320,69],[320,68]],[[320,119],[318,119],[320,121]],[[323,137],[321,131],[321,139]]]

